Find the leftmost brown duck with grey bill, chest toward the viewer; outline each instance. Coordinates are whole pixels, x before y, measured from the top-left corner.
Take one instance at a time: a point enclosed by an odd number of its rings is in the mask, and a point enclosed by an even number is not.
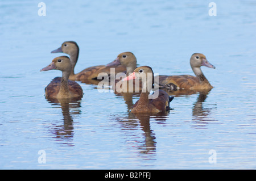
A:
[[[56,57],[51,64],[40,71],[61,70],[62,77],[55,77],[45,88],[46,99],[81,99],[83,91],[79,83],[69,80],[72,71],[71,60],[67,56]]]

